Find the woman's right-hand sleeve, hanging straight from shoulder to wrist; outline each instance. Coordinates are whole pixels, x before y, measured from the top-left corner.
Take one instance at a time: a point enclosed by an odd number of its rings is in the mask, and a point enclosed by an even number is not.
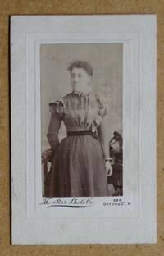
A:
[[[98,98],[98,113],[99,116],[102,117],[100,124],[98,126],[98,137],[100,139],[100,142],[102,144],[103,147],[103,154],[104,154],[104,158],[110,158],[110,154],[109,154],[109,138],[108,138],[108,134],[107,134],[107,130],[108,130],[108,120],[107,120],[107,101],[104,98],[99,97]]]

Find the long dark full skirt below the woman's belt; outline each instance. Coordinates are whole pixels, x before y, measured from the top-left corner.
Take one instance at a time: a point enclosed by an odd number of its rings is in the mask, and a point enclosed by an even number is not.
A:
[[[103,148],[92,135],[67,136],[58,145],[45,182],[46,197],[108,196]]]

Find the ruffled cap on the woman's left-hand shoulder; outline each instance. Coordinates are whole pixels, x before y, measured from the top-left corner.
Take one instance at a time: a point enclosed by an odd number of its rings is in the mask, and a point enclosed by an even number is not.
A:
[[[63,117],[65,112],[64,99],[59,98],[58,100],[49,103],[49,110],[53,115],[57,114],[57,116]]]

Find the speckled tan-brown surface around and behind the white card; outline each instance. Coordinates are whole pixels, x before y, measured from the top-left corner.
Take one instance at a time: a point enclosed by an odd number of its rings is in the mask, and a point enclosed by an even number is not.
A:
[[[11,245],[10,79],[11,15],[157,14],[157,245]],[[163,256],[164,252],[164,1],[0,0],[0,254],[1,256]],[[18,113],[19,114],[19,113]],[[18,156],[19,157],[19,156]]]

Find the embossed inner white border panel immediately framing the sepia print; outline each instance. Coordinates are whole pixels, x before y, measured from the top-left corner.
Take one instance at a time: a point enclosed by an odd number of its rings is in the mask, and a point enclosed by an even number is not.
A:
[[[41,134],[40,134],[40,46],[55,43],[121,43],[123,45],[123,139],[124,196],[116,197],[129,206],[104,207],[114,198],[94,198],[94,207],[48,208],[41,194]],[[17,45],[19,47],[19,45]],[[138,217],[139,216],[139,33],[73,32],[26,34],[26,135],[27,169],[26,202],[28,217]],[[133,85],[133,86],[131,86]],[[54,88],[55,89],[55,88]],[[28,194],[28,196],[27,196]],[[55,200],[54,199],[51,199]],[[69,198],[71,200],[71,198]]]

